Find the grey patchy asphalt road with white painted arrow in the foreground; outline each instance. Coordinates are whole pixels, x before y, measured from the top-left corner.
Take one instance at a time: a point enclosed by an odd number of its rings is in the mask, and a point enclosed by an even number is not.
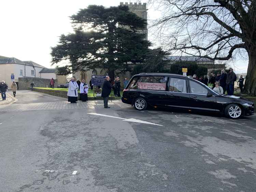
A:
[[[255,116],[17,99],[0,106],[0,191],[255,191]]]

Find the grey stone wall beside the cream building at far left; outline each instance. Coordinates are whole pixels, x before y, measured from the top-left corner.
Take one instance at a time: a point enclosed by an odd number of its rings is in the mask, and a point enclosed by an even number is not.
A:
[[[19,77],[18,82],[19,82],[19,89],[28,89],[30,87],[30,84],[34,82],[35,87],[46,87],[50,86],[50,80],[51,79],[44,79],[44,78],[39,78],[39,77]],[[58,80],[55,80],[55,87],[58,85]]]

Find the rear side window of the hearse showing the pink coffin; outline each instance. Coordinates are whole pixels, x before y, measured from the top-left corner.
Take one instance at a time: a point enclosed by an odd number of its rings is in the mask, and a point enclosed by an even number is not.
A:
[[[131,84],[130,89],[147,89],[147,90],[166,90],[167,77],[165,76],[142,76],[135,77]]]

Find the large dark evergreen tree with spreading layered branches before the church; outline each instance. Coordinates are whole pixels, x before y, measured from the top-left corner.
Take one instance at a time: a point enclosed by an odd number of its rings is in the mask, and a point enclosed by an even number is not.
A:
[[[113,78],[115,70],[130,70],[132,63],[146,58],[151,43],[138,32],[146,28],[146,20],[128,6],[89,5],[70,18],[74,33],[62,34],[52,47],[53,64],[67,59],[71,63],[59,68],[59,74],[103,68]]]

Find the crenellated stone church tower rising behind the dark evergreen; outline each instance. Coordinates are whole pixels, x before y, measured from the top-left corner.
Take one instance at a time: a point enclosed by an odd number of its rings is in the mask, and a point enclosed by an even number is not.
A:
[[[126,5],[128,6],[129,10],[132,13],[135,13],[139,17],[142,17],[143,19],[147,20],[147,4],[146,3],[128,3],[128,2],[120,2],[120,5]],[[140,31],[141,33],[146,34],[146,40],[147,40],[147,27]]]

